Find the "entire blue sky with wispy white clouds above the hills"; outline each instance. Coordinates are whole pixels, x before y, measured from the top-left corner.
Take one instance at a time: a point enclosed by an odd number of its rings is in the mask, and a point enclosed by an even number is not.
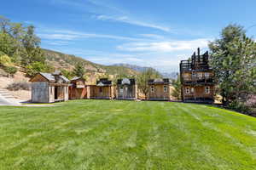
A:
[[[41,47],[92,62],[178,71],[224,26],[256,35],[255,0],[1,0],[0,15],[36,27]],[[253,26],[253,27],[251,27]]]

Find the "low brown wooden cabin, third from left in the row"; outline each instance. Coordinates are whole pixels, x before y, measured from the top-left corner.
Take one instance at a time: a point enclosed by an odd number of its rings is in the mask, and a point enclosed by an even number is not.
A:
[[[101,78],[96,85],[90,86],[90,99],[113,99],[114,88],[112,81],[108,78]]]

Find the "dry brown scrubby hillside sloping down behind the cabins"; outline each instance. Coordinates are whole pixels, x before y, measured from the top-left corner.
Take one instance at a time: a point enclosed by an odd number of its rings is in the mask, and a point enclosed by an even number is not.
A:
[[[49,49],[43,49],[43,50],[44,50],[44,55],[46,57],[47,62],[49,63],[49,65],[52,65],[55,68],[72,71],[75,65],[80,63],[84,65],[84,69],[88,72],[105,73],[108,75],[123,74],[123,75],[130,75],[130,76],[139,74],[138,71],[135,71],[123,65],[99,65],[99,64],[90,62],[86,59],[77,57],[73,54],[62,54],[60,52],[56,52]]]

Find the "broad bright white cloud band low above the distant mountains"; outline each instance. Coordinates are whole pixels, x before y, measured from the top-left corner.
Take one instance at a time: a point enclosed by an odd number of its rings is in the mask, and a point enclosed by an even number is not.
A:
[[[195,39],[189,41],[164,41],[164,42],[131,42],[119,45],[117,48],[130,52],[173,52],[183,50],[195,50],[195,48],[206,48],[210,39]]]

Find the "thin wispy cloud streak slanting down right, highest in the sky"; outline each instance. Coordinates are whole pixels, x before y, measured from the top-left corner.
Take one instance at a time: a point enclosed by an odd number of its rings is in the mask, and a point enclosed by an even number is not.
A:
[[[154,28],[154,29],[161,30],[161,31],[167,31],[167,32],[171,31],[171,29],[169,27],[160,26],[160,25],[152,24],[152,23],[147,23],[147,22],[144,22],[141,20],[134,20],[127,16],[116,17],[116,16],[108,16],[108,15],[102,14],[102,15],[96,16],[96,19],[98,19],[98,20],[113,20],[113,21],[119,21],[119,22],[131,24],[131,25],[135,25],[135,26],[144,26],[144,27]]]

